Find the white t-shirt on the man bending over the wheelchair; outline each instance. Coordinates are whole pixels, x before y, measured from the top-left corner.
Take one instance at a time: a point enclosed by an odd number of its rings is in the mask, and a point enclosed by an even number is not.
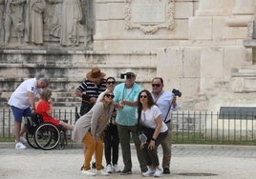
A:
[[[41,91],[42,89],[36,88],[36,78],[25,80],[11,94],[8,104],[18,109],[27,109],[31,106],[29,92],[33,92],[35,96]]]

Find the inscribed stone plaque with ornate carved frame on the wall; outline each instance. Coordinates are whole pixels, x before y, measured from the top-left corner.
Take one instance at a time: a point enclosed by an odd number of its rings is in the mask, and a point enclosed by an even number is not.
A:
[[[125,29],[154,34],[175,28],[175,0],[125,0]]]

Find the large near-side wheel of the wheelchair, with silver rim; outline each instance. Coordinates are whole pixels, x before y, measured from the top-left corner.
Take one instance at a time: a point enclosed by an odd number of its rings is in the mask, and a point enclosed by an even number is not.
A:
[[[34,132],[34,142],[40,149],[54,149],[59,143],[59,130],[50,123],[40,125]]]

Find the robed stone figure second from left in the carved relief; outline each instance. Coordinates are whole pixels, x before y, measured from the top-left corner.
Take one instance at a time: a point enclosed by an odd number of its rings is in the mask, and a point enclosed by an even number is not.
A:
[[[43,13],[45,0],[27,0],[25,42],[43,44]]]

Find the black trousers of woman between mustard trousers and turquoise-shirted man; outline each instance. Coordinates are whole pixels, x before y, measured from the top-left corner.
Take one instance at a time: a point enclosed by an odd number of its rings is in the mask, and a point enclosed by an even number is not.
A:
[[[116,165],[118,161],[119,137],[117,125],[109,124],[105,130],[104,152],[107,165]],[[111,160],[112,158],[112,160]]]

